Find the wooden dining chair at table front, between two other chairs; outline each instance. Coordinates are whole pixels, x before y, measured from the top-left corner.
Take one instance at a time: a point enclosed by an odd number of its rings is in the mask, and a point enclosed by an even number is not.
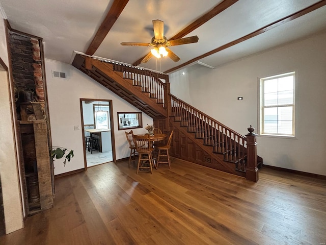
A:
[[[152,158],[152,144],[150,143],[150,135],[133,135],[133,139],[136,145],[136,151],[138,152],[138,165],[137,174],[139,169],[149,168],[151,174],[153,174],[153,158]],[[148,163],[149,166],[146,164]]]

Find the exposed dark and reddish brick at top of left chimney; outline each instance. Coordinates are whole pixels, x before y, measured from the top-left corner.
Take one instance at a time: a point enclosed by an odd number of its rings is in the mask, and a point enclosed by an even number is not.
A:
[[[15,93],[33,92],[33,100],[44,102],[44,87],[39,39],[10,32],[10,51]]]

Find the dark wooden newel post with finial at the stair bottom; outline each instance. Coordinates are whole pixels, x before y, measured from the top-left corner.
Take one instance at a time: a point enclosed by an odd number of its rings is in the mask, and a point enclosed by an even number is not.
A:
[[[251,181],[258,181],[257,168],[257,134],[253,133],[255,128],[250,125],[248,128],[249,134],[247,136],[247,167],[246,179]]]

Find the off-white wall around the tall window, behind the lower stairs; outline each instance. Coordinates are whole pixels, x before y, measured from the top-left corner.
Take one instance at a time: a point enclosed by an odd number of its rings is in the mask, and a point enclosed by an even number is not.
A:
[[[284,45],[215,69],[199,65],[171,77],[171,93],[234,129],[246,134],[258,126],[258,80],[296,72],[296,139],[258,136],[264,164],[326,175],[326,33]],[[181,72],[187,74],[187,86]],[[185,85],[186,86],[186,85]],[[243,96],[243,101],[237,97]],[[257,131],[256,131],[257,132]]]

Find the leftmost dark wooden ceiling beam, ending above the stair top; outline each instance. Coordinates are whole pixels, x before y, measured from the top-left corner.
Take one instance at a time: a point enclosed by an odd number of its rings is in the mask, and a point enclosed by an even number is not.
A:
[[[118,19],[124,7],[127,5],[129,0],[115,0],[108,11],[105,19],[101,23],[101,26],[97,30],[91,44],[87,48],[87,55],[94,55],[97,51],[97,48],[101,45],[102,41],[106,37],[107,33],[113,27],[113,24]]]

